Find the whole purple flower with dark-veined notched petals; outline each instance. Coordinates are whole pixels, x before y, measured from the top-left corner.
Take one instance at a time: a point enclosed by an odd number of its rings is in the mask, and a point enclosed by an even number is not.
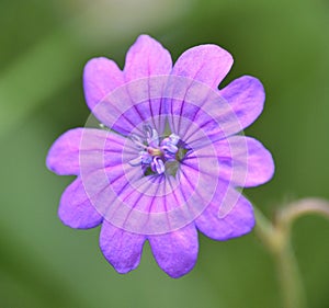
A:
[[[274,166],[259,141],[239,134],[262,112],[260,81],[243,76],[217,88],[231,65],[226,50],[201,45],[172,66],[147,35],[123,70],[106,58],[87,64],[86,100],[100,127],[65,133],[47,167],[77,175],[59,217],[72,228],[102,225],[101,250],[118,273],[138,266],[148,240],[159,266],[180,277],[196,262],[197,230],[228,240],[252,229],[239,190],[268,182]]]

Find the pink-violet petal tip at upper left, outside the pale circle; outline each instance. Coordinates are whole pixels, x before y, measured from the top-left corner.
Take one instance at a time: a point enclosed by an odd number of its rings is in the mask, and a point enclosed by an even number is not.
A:
[[[114,61],[103,57],[88,61],[83,71],[83,89],[90,110],[123,83],[123,72]]]

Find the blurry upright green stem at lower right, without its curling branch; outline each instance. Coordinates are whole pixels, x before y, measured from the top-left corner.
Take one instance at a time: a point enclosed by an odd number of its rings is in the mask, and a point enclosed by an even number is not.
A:
[[[291,246],[290,227],[273,225],[254,208],[256,232],[276,263],[284,308],[305,308],[306,298],[299,270]]]

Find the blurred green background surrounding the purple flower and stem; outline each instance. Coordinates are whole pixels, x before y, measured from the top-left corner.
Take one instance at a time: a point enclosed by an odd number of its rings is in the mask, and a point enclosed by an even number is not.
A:
[[[225,83],[264,83],[262,116],[246,130],[273,152],[275,178],[246,195],[268,216],[305,196],[329,198],[328,0],[0,0],[0,307],[277,308],[273,260],[254,233],[228,242],[200,236],[195,269],[169,278],[145,247],[140,266],[120,275],[98,247],[99,228],[61,225],[69,176],[45,167],[52,142],[89,115],[86,61],[121,66],[140,33],[173,59],[214,43],[235,66]],[[329,307],[329,223],[299,219],[293,244],[308,305]],[[297,308],[297,307],[296,307]]]

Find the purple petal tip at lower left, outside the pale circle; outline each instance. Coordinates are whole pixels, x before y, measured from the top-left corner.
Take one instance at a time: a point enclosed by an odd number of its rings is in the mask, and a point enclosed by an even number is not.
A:
[[[75,180],[61,195],[58,216],[65,225],[79,229],[97,227],[103,220],[91,204],[80,179]]]

